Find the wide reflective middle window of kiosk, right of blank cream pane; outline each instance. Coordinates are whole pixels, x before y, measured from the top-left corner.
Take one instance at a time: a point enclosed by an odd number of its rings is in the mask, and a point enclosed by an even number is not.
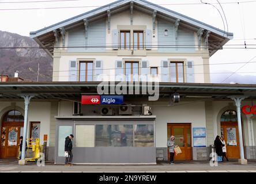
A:
[[[96,147],[133,147],[133,125],[96,125]]]

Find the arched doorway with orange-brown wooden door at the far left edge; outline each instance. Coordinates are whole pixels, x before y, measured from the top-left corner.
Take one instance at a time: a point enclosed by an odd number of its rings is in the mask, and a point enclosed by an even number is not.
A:
[[[0,158],[14,158],[17,156],[20,136],[23,134],[23,125],[24,117],[18,110],[10,110],[3,116]]]

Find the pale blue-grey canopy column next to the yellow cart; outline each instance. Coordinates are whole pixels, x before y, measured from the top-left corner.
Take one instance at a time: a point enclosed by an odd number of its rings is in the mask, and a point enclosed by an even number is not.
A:
[[[25,101],[25,114],[24,114],[24,128],[23,128],[23,140],[22,140],[22,151],[21,151],[21,160],[19,160],[18,164],[25,165],[25,145],[27,141],[27,127],[28,127],[28,106],[29,102],[32,97],[35,95],[33,94],[21,94],[22,98],[24,98]]]

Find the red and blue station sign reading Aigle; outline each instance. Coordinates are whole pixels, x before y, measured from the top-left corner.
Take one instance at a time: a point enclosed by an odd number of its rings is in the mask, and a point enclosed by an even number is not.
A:
[[[82,95],[82,105],[122,105],[123,95]]]

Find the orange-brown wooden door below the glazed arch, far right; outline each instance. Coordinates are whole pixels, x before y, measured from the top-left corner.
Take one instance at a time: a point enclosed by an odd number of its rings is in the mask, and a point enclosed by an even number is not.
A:
[[[230,159],[240,158],[240,141],[237,122],[221,122],[221,135],[224,137],[227,147],[227,157]]]

